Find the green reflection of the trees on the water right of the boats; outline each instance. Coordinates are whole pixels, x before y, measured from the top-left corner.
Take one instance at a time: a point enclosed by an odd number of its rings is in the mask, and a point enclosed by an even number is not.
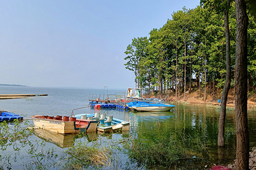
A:
[[[173,112],[134,113],[135,137],[140,140],[157,141],[171,138],[182,143],[196,157],[207,164],[231,163],[235,159],[235,114],[228,110],[225,125],[225,148],[218,147],[219,108],[176,105]],[[250,146],[256,146],[255,113],[249,113]],[[249,131],[250,131],[249,130]]]

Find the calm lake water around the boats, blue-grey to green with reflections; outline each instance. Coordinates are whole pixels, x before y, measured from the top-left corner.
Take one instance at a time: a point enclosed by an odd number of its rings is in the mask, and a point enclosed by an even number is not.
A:
[[[111,90],[108,94],[122,94],[125,89]],[[105,94],[103,89],[71,89],[71,88],[33,88],[33,87],[0,87],[0,94],[47,94],[48,96],[37,96],[22,99],[0,100],[0,108],[9,110],[10,112],[22,115],[25,119],[29,119],[32,115],[63,115],[69,116],[75,108],[85,107],[89,105],[90,94]],[[175,105],[175,104],[174,104]],[[218,121],[219,109],[215,107],[194,106],[194,105],[176,105],[171,112],[131,112],[117,111],[116,109],[102,109],[101,112],[107,115],[114,115],[115,118],[129,121],[130,131],[118,134],[110,134],[107,137],[97,134],[97,137],[87,135],[83,140],[92,141],[104,139],[107,142],[115,142],[117,140],[125,140],[130,137],[141,140],[157,140],[160,138],[173,138],[182,140],[186,144],[184,147],[193,147],[191,145],[203,146],[201,151],[194,153],[198,160],[188,160],[180,165],[183,169],[198,167],[199,169],[207,169],[213,164],[226,165],[235,159],[235,115],[234,111],[229,109],[226,121],[226,147],[220,151],[217,147],[218,139]],[[75,111],[75,114],[94,113],[89,108]],[[250,147],[255,147],[256,137],[256,114],[249,113],[250,128]],[[33,122],[29,122],[33,124]],[[12,125],[10,125],[12,126]],[[42,138],[42,137],[41,137]],[[31,141],[42,141],[42,139],[33,135]],[[73,135],[66,137],[68,141],[76,141]],[[90,144],[89,144],[90,145]],[[46,142],[45,148],[54,148],[57,152],[73,146],[73,142],[55,145]],[[13,169],[26,169],[25,164],[31,161],[27,153],[28,148],[23,151],[12,151],[8,148],[2,151],[1,155],[12,155],[11,166]],[[221,153],[221,154],[220,154]],[[123,155],[123,164],[129,160],[127,155]],[[202,161],[203,160],[203,161]],[[1,162],[3,165],[4,163]],[[207,166],[207,167],[205,167]],[[124,166],[123,166],[124,167]],[[145,167],[144,167],[145,168]],[[143,168],[142,168],[143,169]],[[172,168],[171,168],[172,169]]]

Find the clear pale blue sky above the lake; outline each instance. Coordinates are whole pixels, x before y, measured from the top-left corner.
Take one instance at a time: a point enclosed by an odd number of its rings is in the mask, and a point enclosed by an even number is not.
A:
[[[133,38],[149,37],[200,0],[0,2],[0,83],[31,87],[135,87],[124,63]]]

